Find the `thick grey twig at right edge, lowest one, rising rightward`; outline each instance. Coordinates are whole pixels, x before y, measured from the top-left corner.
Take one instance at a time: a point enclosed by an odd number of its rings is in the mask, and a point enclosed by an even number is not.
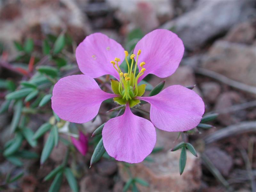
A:
[[[256,131],[256,121],[244,121],[240,124],[229,125],[224,129],[220,129],[204,138],[205,144],[212,143],[214,141],[229,137],[232,135],[238,135],[245,132]]]

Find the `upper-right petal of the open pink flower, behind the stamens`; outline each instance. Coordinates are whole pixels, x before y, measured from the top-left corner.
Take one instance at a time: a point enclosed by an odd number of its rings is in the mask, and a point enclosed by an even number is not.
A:
[[[143,79],[149,73],[165,78],[172,75],[178,68],[184,53],[182,40],[172,31],[156,29],[145,35],[135,46],[134,54],[138,50],[141,54],[138,63],[144,61],[146,71],[139,78]],[[139,66],[141,69],[141,67]]]

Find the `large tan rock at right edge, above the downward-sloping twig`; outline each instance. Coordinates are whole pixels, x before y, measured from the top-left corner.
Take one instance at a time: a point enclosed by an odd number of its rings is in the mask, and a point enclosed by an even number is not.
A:
[[[241,83],[256,86],[255,46],[216,41],[202,67]]]

